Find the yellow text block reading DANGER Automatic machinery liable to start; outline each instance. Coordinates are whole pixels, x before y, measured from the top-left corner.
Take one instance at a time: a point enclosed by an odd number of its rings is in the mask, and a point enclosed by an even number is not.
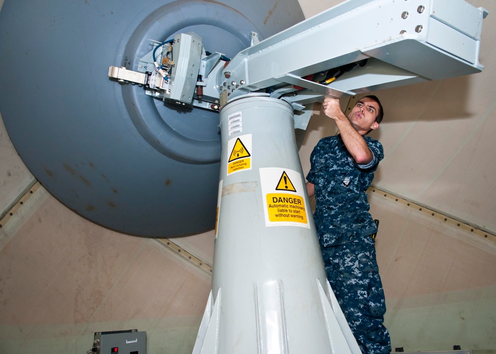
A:
[[[269,193],[267,211],[270,222],[290,221],[307,224],[305,199],[300,195]]]

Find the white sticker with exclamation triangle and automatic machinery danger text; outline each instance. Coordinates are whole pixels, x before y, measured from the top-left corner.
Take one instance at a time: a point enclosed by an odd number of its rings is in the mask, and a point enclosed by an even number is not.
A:
[[[266,226],[310,228],[301,174],[281,168],[260,169]]]

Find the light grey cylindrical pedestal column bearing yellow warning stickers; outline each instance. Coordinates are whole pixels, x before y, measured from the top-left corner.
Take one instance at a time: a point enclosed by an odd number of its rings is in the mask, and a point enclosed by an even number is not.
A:
[[[331,353],[317,284],[326,289],[326,275],[293,109],[248,96],[227,104],[220,124],[218,353]]]

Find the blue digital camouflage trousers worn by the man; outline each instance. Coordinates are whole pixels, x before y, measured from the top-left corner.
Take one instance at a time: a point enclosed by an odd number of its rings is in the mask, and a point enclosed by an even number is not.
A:
[[[327,279],[363,354],[389,354],[386,304],[371,236],[321,247]]]

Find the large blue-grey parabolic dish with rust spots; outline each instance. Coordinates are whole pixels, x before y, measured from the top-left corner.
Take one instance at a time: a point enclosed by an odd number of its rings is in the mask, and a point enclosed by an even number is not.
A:
[[[190,31],[233,57],[250,31],[263,39],[303,19],[297,0],[5,0],[5,127],[33,175],[79,215],[139,236],[211,230],[218,114],[154,100],[109,80],[109,66],[136,70],[150,40]]]

